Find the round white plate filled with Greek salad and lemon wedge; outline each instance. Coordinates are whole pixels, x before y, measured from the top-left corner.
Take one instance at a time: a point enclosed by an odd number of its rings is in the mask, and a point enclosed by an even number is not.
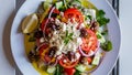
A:
[[[108,75],[120,39],[107,0],[26,0],[11,29],[12,54],[23,75]]]

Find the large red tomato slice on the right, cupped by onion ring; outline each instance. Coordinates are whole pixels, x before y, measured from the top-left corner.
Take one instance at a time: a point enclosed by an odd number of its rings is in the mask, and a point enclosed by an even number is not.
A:
[[[88,29],[86,29],[86,32],[88,35],[81,38],[82,44],[80,45],[79,51],[84,56],[91,56],[98,50],[97,47],[99,44],[95,32]]]

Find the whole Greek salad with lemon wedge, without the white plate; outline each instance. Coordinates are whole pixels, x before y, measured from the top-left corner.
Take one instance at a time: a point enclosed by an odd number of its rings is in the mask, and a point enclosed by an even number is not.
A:
[[[112,50],[109,19],[87,0],[46,0],[22,22],[29,61],[41,75],[87,75]]]

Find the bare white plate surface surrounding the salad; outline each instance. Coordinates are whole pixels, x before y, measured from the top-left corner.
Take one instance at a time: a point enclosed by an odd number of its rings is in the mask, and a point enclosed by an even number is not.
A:
[[[113,9],[109,6],[109,3],[106,0],[90,0],[90,1],[98,9],[105,10],[106,15],[110,19],[108,29],[109,38],[112,41],[113,45],[113,50],[107,53],[100,66],[91,75],[108,75],[108,73],[112,69],[119,55],[121,39],[119,22]],[[42,0],[26,0],[20,8],[19,12],[16,13],[11,29],[12,54],[18,67],[24,75],[38,75],[38,73],[28,61],[24,50],[23,39],[24,36],[21,32],[19,32],[19,26],[22,22],[22,19],[25,18],[25,15],[33,13],[37,10],[37,7],[41,2]]]

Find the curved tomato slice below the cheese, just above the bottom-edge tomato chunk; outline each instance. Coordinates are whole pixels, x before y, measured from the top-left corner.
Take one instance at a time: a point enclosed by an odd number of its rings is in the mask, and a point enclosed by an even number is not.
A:
[[[66,62],[64,62],[64,60]],[[64,67],[64,68],[73,68],[78,64],[79,60],[77,60],[76,62],[72,62],[69,61],[67,57],[62,57],[62,60],[59,60],[59,64]]]

